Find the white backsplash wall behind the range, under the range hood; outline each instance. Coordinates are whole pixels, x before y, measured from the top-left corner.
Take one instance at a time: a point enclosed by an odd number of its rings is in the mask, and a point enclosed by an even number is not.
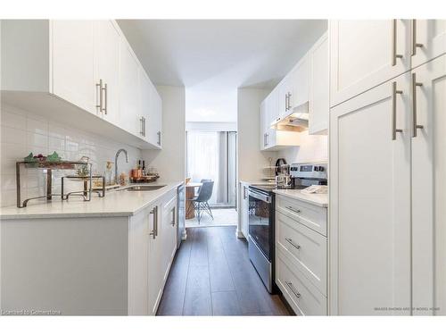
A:
[[[287,163],[328,162],[328,136],[301,132],[301,146],[286,147],[277,152]]]

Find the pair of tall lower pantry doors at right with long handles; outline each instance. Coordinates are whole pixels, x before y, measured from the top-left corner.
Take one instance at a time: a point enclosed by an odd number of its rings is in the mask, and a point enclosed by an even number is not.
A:
[[[446,56],[330,112],[330,314],[445,314]]]

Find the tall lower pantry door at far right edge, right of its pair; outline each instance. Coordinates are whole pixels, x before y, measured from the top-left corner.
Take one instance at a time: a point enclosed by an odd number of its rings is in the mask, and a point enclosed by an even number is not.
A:
[[[444,315],[446,55],[415,69],[412,76],[414,83],[422,85],[413,86],[412,119],[423,127],[411,128],[413,307],[414,314]]]

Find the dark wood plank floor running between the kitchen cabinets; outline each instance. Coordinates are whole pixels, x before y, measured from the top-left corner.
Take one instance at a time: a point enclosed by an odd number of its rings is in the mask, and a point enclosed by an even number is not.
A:
[[[188,228],[175,257],[158,315],[288,315],[270,295],[235,227]]]

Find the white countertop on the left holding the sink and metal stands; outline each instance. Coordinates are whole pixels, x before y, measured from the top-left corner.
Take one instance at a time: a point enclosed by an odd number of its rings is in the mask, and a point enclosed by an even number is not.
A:
[[[105,197],[93,194],[91,201],[81,197],[69,200],[54,198],[48,203],[29,202],[27,207],[9,206],[0,208],[0,219],[29,219],[53,217],[95,217],[95,216],[131,216],[163,197],[173,188],[178,188],[184,181],[152,182],[148,185],[165,185],[151,191],[128,191],[118,188],[105,192]],[[145,185],[145,184],[135,184]],[[125,188],[134,185],[128,185]]]

